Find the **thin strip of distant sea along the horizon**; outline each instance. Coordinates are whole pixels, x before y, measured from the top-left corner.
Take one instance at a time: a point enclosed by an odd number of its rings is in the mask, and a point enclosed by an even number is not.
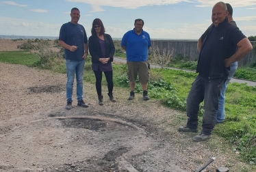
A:
[[[17,39],[23,39],[23,40],[56,40],[58,39],[57,36],[28,36],[28,35],[0,35],[0,39],[6,39],[6,40],[17,40]],[[113,40],[122,40],[122,38],[112,38]],[[166,40],[166,41],[197,41],[195,39],[163,39],[163,38],[151,38],[151,40]]]

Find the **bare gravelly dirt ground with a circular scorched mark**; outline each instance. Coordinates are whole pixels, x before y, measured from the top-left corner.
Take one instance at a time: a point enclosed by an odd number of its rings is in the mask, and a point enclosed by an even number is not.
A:
[[[0,51],[15,51],[18,43],[9,43]],[[114,88],[113,103],[104,86],[99,106],[94,85],[84,83],[84,109],[76,106],[74,86],[73,109],[66,111],[65,83],[65,74],[0,63],[0,171],[185,172],[213,156],[209,171],[247,169],[231,148],[218,146],[218,137],[196,143],[194,134],[177,132],[184,121],[172,119],[184,113],[139,94],[127,101],[127,89]]]

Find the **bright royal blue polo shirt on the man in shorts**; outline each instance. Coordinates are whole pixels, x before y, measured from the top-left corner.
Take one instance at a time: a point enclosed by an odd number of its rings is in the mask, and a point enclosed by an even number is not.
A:
[[[146,61],[148,48],[151,46],[149,33],[143,31],[138,35],[134,29],[123,35],[121,46],[126,47],[127,61]]]

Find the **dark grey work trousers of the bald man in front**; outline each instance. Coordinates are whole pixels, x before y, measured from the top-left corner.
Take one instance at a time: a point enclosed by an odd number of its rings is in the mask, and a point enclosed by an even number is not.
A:
[[[187,98],[188,128],[197,128],[199,123],[199,104],[204,101],[205,113],[203,114],[202,134],[212,134],[216,124],[216,113],[218,110],[218,96],[222,84],[226,78],[203,78],[197,76],[192,83]]]

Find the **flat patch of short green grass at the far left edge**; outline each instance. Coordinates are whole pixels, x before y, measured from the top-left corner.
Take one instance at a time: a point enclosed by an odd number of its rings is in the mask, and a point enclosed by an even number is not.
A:
[[[32,66],[38,57],[35,53],[29,51],[2,51],[0,52],[0,61],[12,64],[21,64],[25,66]]]

